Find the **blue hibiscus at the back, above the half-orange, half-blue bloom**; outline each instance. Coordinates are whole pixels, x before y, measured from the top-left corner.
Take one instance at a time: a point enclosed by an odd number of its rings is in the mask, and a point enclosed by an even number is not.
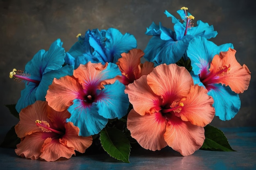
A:
[[[92,63],[105,64],[106,62],[116,63],[121,57],[121,53],[128,53],[130,49],[137,47],[135,37],[129,33],[124,35],[114,28],[108,30],[93,29],[88,30],[85,36],[79,36],[76,42],[68,51],[69,59],[67,64],[72,64],[77,68],[79,64]]]

